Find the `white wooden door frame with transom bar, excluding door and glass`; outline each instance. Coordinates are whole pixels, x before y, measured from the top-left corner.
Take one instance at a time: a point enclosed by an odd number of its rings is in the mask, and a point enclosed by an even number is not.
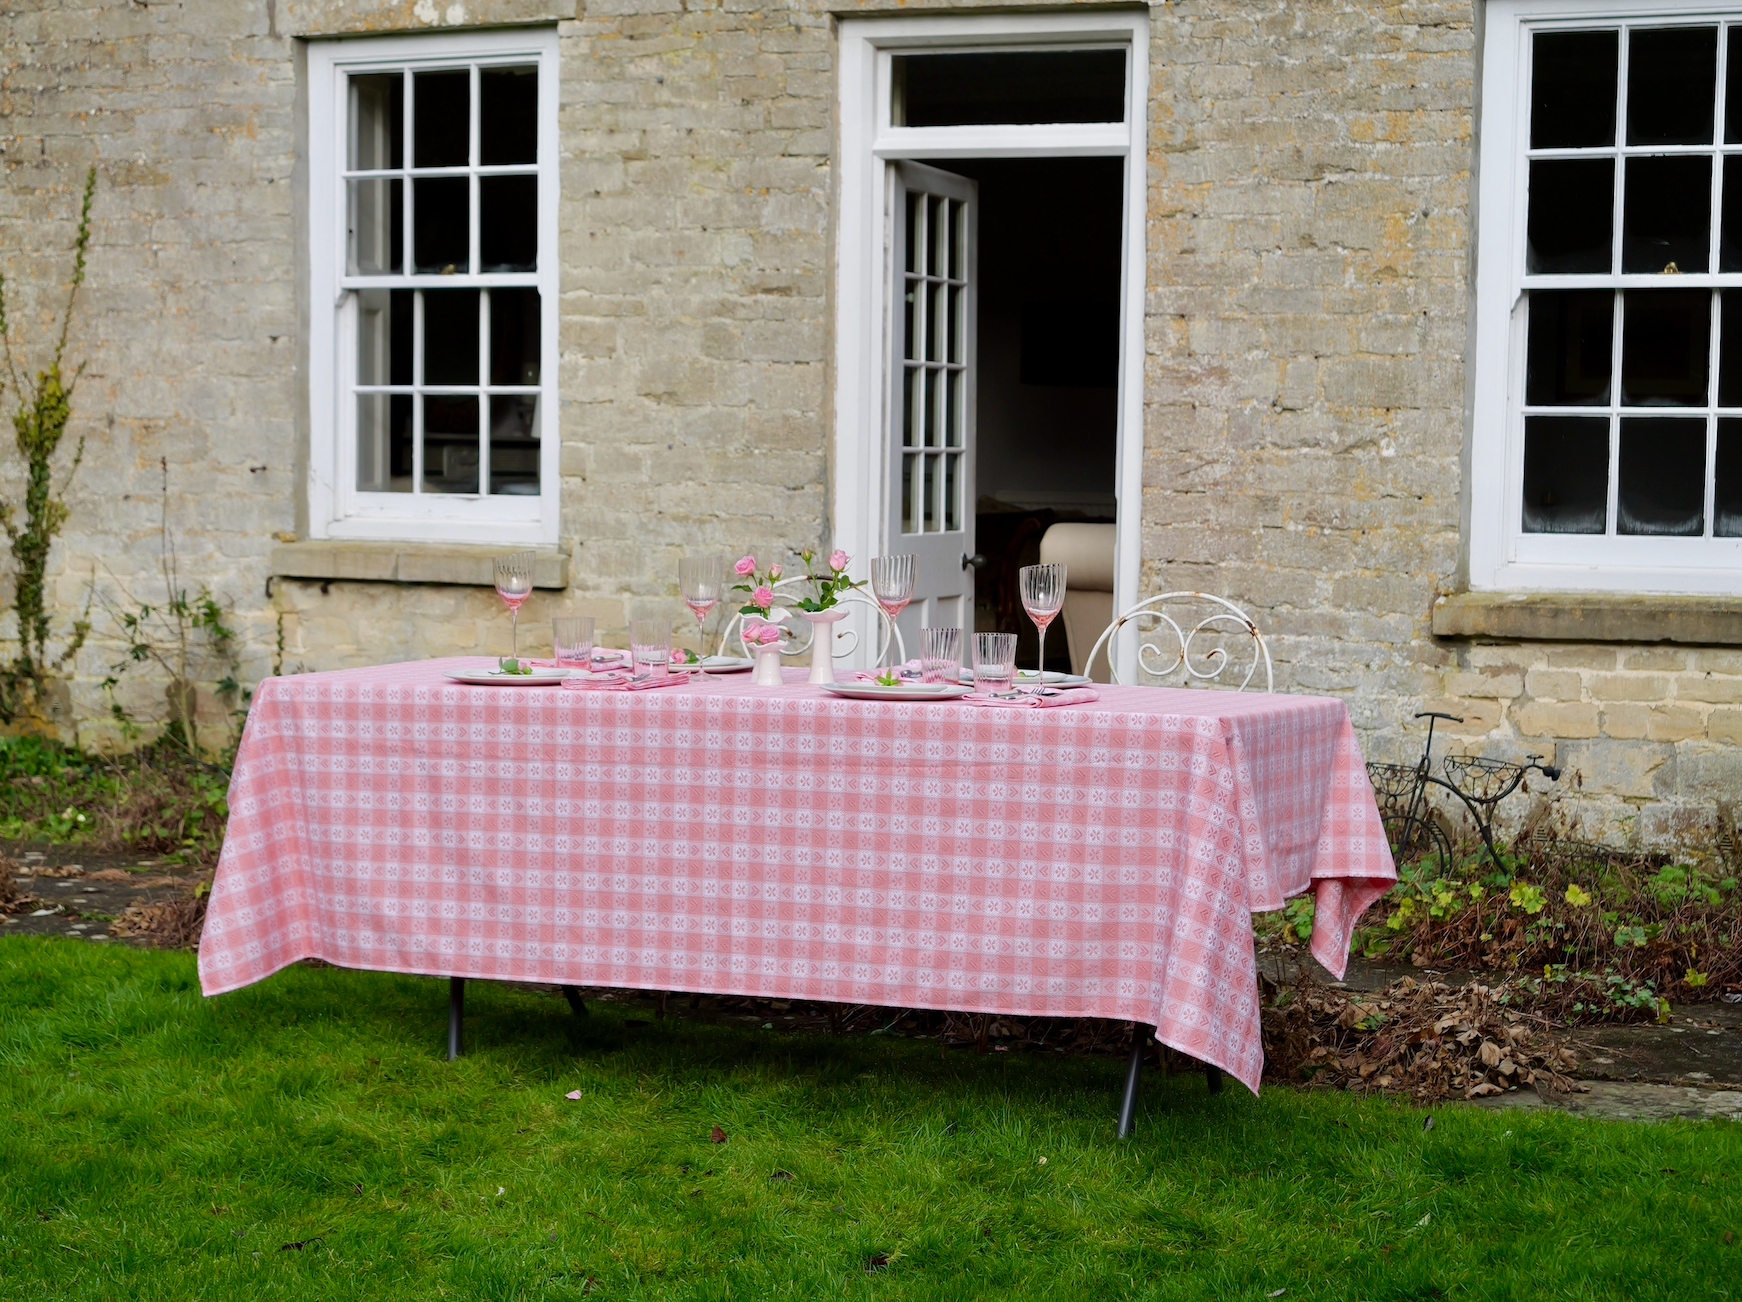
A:
[[[906,51],[1106,49],[1127,54],[1125,120],[1108,124],[890,127],[890,56]],[[897,160],[1125,160],[1120,251],[1118,434],[1113,608],[1138,600],[1143,561],[1144,131],[1150,17],[1143,10],[847,17],[840,23],[838,225],[834,261],[834,546],[855,577],[887,546],[888,167]],[[969,504],[972,509],[972,504]],[[859,645],[874,645],[866,636]],[[1129,641],[1129,640],[1127,640]],[[1117,648],[1124,661],[1134,645]],[[1129,673],[1125,673],[1129,676]]]

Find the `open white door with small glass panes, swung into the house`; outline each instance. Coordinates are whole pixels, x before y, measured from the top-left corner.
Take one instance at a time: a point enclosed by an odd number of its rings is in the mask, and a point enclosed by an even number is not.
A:
[[[888,185],[888,551],[913,553],[908,652],[922,627],[974,629],[977,185],[918,162]]]

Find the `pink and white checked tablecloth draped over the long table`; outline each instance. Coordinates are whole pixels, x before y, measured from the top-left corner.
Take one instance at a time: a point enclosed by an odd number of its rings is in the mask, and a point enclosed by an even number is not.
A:
[[[298,959],[437,976],[1141,1021],[1258,1089],[1251,913],[1313,891],[1343,973],[1395,880],[1334,697],[1101,687],[887,704],[787,671],[463,687],[268,678],[206,993]]]

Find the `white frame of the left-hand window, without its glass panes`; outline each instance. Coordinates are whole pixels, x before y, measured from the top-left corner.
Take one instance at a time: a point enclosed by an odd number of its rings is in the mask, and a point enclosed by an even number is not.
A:
[[[533,284],[540,296],[538,495],[364,493],[357,483],[357,289],[451,289],[444,275],[347,275],[347,77],[463,59],[538,64],[538,270],[465,286]],[[476,105],[474,105],[476,113]],[[406,132],[411,150],[411,132]],[[408,195],[409,202],[409,195]],[[408,244],[406,256],[411,256]],[[554,544],[557,483],[557,38],[556,28],[308,44],[308,533],[315,539]],[[479,376],[484,380],[486,376]],[[488,431],[483,431],[488,437]],[[483,485],[481,485],[483,488]]]

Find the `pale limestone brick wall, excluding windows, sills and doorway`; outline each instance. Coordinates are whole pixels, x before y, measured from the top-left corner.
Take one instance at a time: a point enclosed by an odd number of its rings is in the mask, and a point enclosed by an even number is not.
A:
[[[928,7],[946,5],[859,12]],[[1448,708],[1460,749],[1566,763],[1590,835],[1693,835],[1742,777],[1742,652],[1430,633],[1460,582],[1477,17],[1477,0],[1151,5],[1144,586],[1251,607],[1279,685],[1345,697],[1374,758],[1411,756],[1409,716]],[[235,612],[246,678],[500,648],[488,589],[267,580],[305,526],[298,40],[524,21],[561,38],[570,554],[570,587],[524,608],[530,638],[554,610],[608,636],[679,619],[685,551],[827,539],[820,0],[38,0],[0,9],[0,270],[30,338],[99,173],[63,610],[92,582],[157,598],[167,467],[181,575]],[[12,474],[0,457],[0,492]],[[105,619],[77,666],[85,720],[117,657]]]

